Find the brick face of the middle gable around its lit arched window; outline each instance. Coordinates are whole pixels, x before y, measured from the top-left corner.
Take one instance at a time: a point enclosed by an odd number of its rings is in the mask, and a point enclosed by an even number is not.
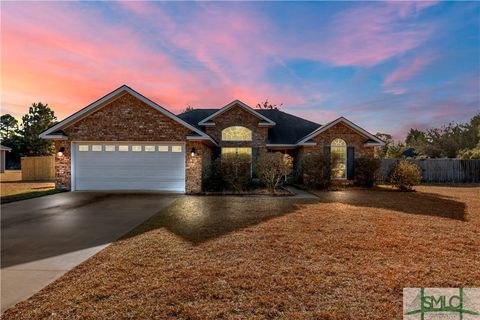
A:
[[[206,126],[205,132],[218,141],[220,147],[252,147],[265,149],[268,127],[260,127],[258,117],[240,106],[233,106],[212,119],[215,126]],[[252,141],[222,141],[222,130],[231,126],[242,126],[252,130]]]

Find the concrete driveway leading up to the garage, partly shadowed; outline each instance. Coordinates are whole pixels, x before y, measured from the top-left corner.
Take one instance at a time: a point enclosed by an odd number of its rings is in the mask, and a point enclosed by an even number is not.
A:
[[[25,300],[179,195],[66,192],[1,206],[1,311]]]

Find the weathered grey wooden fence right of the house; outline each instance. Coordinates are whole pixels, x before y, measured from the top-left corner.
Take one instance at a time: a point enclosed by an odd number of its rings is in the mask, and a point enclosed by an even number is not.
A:
[[[380,181],[399,159],[382,159]],[[422,169],[422,182],[480,183],[480,160],[423,159],[409,160]]]

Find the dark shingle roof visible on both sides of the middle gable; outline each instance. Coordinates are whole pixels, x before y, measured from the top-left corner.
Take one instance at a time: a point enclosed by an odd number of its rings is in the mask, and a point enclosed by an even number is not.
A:
[[[178,115],[183,121],[199,128],[198,123],[220,109],[194,109]],[[276,123],[268,131],[268,143],[294,144],[320,127],[320,124],[294,116],[280,110],[259,110],[258,113]]]

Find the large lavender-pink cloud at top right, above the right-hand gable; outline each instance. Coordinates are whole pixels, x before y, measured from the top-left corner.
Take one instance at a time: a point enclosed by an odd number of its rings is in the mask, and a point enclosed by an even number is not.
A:
[[[432,26],[405,20],[424,8],[409,2],[346,10],[334,17],[329,36],[300,47],[301,53],[336,66],[379,64],[418,47],[430,36]]]

